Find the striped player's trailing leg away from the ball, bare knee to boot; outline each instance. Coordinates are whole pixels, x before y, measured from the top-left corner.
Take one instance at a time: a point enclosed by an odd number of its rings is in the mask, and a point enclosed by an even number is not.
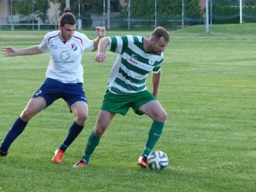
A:
[[[112,113],[106,110],[99,111],[96,126],[94,130],[91,132],[85,146],[85,155],[82,157],[81,161],[78,161],[76,164],[74,164],[74,167],[76,168],[82,167],[89,163],[90,157],[93,154],[96,147],[98,146],[101,136],[104,134],[104,132],[108,128],[114,116],[115,116],[115,113]]]

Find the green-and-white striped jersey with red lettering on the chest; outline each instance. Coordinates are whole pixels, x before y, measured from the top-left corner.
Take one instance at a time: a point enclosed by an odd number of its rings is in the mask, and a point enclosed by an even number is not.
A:
[[[112,70],[108,90],[113,94],[137,93],[146,90],[146,77],[158,73],[163,63],[163,53],[155,55],[144,50],[142,36],[109,37],[109,50],[118,53]]]

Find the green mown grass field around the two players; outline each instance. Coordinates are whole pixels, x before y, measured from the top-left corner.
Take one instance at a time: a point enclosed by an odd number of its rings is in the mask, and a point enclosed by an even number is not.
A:
[[[89,117],[84,131],[51,162],[73,115],[57,100],[27,125],[9,155],[0,158],[0,192],[255,192],[256,25],[195,26],[171,33],[158,100],[169,114],[156,150],[169,157],[164,171],[137,166],[152,121],[132,110],[117,115],[88,167],[76,169],[105,94],[115,54],[104,63],[85,52],[84,89]],[[0,47],[39,44],[47,31],[2,31]],[[89,38],[95,32],[84,33]],[[150,36],[108,31],[107,36]],[[0,141],[45,79],[49,53],[0,57]],[[147,87],[152,90],[151,75]]]

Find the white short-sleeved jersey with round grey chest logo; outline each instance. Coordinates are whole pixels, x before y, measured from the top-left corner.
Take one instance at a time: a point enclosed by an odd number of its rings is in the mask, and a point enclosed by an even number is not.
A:
[[[38,45],[39,50],[50,51],[50,62],[46,78],[55,79],[62,83],[84,83],[84,69],[81,65],[82,52],[94,48],[93,40],[85,34],[74,32],[72,39],[62,41],[60,31],[46,34],[44,40]]]

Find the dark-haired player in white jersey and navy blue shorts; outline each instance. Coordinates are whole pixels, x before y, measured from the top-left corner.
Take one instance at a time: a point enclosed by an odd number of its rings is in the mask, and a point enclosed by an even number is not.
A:
[[[73,112],[74,122],[60,148],[55,151],[55,156],[52,158],[55,163],[61,163],[67,147],[83,130],[88,106],[82,84],[84,82],[82,52],[85,49],[97,50],[99,40],[105,36],[106,31],[105,27],[96,27],[98,37],[89,40],[84,34],[75,31],[76,24],[73,14],[64,13],[59,20],[59,30],[46,34],[40,45],[24,49],[2,48],[2,54],[6,57],[37,55],[47,53],[49,50],[51,58],[45,82],[5,136],[0,146],[0,156],[7,155],[12,142],[24,131],[31,118],[59,98],[67,102],[70,111]]]

